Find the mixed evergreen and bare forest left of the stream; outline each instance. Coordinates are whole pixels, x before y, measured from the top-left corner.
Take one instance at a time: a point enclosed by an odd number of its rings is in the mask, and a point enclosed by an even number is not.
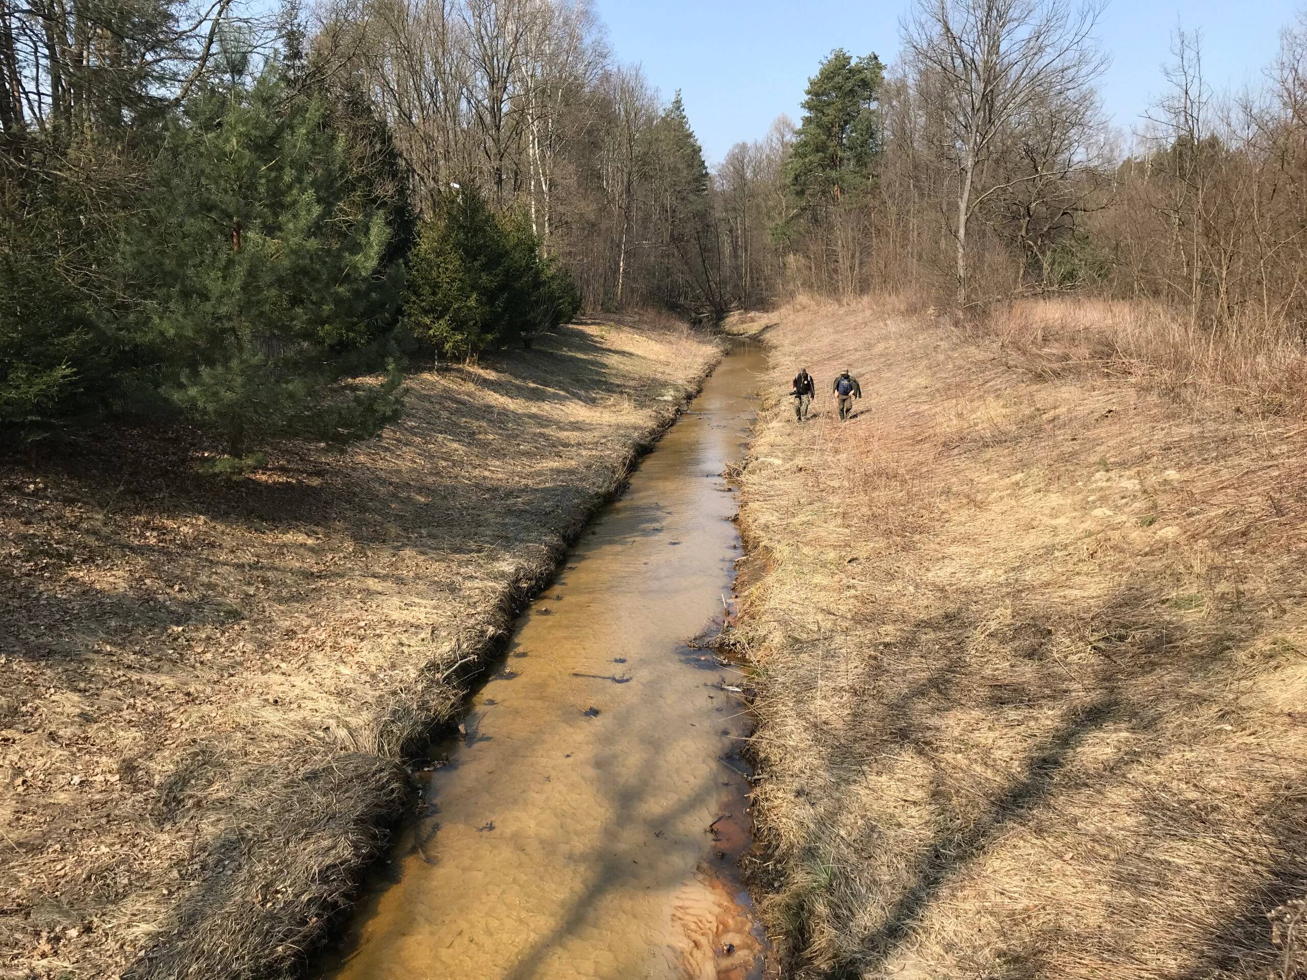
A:
[[[413,358],[725,303],[685,108],[586,4],[5,0],[0,78],[18,440],[186,423],[256,465],[379,431]]]

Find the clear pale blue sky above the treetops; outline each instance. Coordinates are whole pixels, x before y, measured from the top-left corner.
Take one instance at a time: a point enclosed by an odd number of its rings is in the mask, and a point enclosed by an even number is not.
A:
[[[1129,131],[1162,89],[1176,24],[1204,34],[1214,88],[1256,81],[1280,29],[1307,0],[1110,0],[1099,37],[1112,55],[1102,82],[1116,125]],[[763,136],[782,112],[799,122],[808,77],[831,48],[874,51],[890,64],[907,0],[597,0],[613,54],[639,63],[670,98],[685,95],[712,165],[732,144]]]

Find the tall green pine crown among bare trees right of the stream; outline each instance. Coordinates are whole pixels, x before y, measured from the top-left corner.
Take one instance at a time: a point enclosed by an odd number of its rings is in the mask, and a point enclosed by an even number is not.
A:
[[[805,203],[839,203],[874,182],[881,146],[878,99],[885,68],[876,55],[835,48],[808,81],[804,118],[786,165],[791,192]]]

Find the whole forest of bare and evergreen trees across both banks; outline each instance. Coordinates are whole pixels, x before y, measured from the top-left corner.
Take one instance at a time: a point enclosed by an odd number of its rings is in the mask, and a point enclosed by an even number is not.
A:
[[[893,65],[836,48],[797,124],[710,172],[586,0],[3,0],[0,419],[184,422],[239,460],[376,433],[412,358],[799,294],[976,323],[1131,301],[1095,307],[1114,345],[1280,359],[1307,316],[1307,26],[1240,93],[1179,30],[1127,140],[1100,12],[923,0]]]

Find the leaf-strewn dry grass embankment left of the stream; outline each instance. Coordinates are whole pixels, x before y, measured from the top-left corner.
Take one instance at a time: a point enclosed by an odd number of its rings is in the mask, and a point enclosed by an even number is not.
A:
[[[0,464],[0,971],[293,971],[406,753],[715,357],[569,327],[230,483],[128,438]]]

